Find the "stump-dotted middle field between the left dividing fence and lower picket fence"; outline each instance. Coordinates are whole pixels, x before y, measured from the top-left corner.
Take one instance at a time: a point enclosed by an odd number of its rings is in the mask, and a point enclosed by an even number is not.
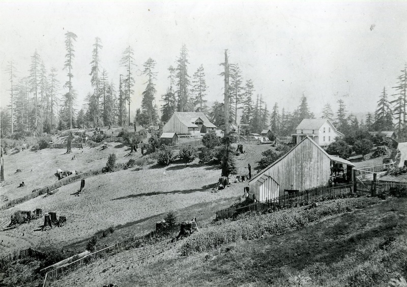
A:
[[[144,167],[101,174],[86,179],[79,197],[72,195],[80,182],[59,188],[51,196],[41,196],[2,211],[0,222],[9,222],[16,210],[56,212],[64,215],[67,225],[49,231],[38,231],[43,218],[33,220],[15,229],[0,232],[0,251],[31,246],[46,249],[48,246],[78,248],[95,233],[113,227],[115,232],[103,243],[120,241],[155,229],[155,222],[169,211],[176,211],[180,220],[193,216],[212,220],[215,211],[225,208],[243,194],[245,183],[213,193],[220,170],[211,166],[172,164],[168,167]]]

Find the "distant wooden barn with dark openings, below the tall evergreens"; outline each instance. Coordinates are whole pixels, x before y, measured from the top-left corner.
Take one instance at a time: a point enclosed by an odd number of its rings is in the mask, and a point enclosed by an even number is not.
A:
[[[204,113],[175,112],[162,128],[163,133],[177,135],[215,132],[216,125]]]

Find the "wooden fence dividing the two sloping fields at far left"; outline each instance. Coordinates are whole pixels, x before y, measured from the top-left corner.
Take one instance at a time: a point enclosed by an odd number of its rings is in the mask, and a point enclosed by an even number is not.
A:
[[[36,197],[38,197],[40,195],[51,192],[52,190],[54,190],[54,189],[56,189],[58,187],[70,184],[71,182],[74,182],[74,181],[76,181],[78,179],[82,179],[82,178],[89,177],[89,176],[99,174],[99,173],[102,173],[101,169],[100,170],[94,170],[94,171],[88,171],[88,172],[80,173],[80,174],[77,174],[77,175],[74,175],[74,176],[65,177],[65,178],[63,178],[61,180],[56,181],[55,183],[52,183],[50,185],[47,185],[47,186],[42,187],[40,189],[37,189],[35,192],[33,192],[33,193],[29,194],[29,195],[7,201],[4,205],[2,205],[0,207],[0,210],[5,210],[5,209],[8,209],[8,208],[11,208],[11,207],[13,207],[13,206],[15,206],[17,204],[20,204],[22,202],[25,202],[25,201],[31,200],[33,198],[36,198]]]

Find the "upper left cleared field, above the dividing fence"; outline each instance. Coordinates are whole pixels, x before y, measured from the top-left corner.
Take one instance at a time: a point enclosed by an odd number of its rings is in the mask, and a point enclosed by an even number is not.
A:
[[[5,185],[1,190],[1,201],[13,200],[27,194],[32,190],[52,184],[58,180],[54,175],[57,169],[89,171],[101,169],[106,166],[107,157],[110,153],[117,155],[118,163],[126,163],[131,157],[138,158],[141,151],[137,150],[131,156],[130,148],[121,143],[109,143],[109,148],[84,147],[83,149],[73,148],[72,153],[65,154],[66,149],[42,149],[37,152],[22,150],[17,153],[10,152],[4,156]],[[72,157],[75,159],[72,160]],[[21,172],[16,173],[19,169]],[[24,181],[25,186],[17,188]]]

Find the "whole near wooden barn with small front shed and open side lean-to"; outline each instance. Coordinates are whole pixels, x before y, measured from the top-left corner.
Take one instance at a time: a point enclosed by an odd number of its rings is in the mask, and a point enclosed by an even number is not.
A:
[[[249,196],[257,201],[266,201],[291,192],[328,186],[330,183],[350,182],[354,166],[343,158],[328,154],[306,137],[252,177],[249,181]]]

